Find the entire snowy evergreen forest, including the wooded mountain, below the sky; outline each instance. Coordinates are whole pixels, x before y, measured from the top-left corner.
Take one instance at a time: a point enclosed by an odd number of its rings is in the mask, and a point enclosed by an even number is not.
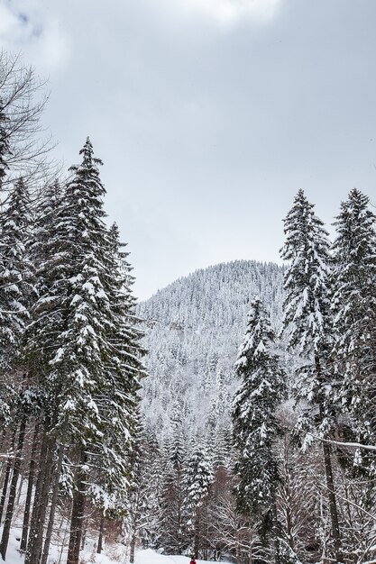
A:
[[[221,263],[140,303],[103,163],[85,136],[51,162],[45,103],[3,51],[0,558],[375,562],[374,203],[344,186],[326,227],[300,189],[280,265]]]

